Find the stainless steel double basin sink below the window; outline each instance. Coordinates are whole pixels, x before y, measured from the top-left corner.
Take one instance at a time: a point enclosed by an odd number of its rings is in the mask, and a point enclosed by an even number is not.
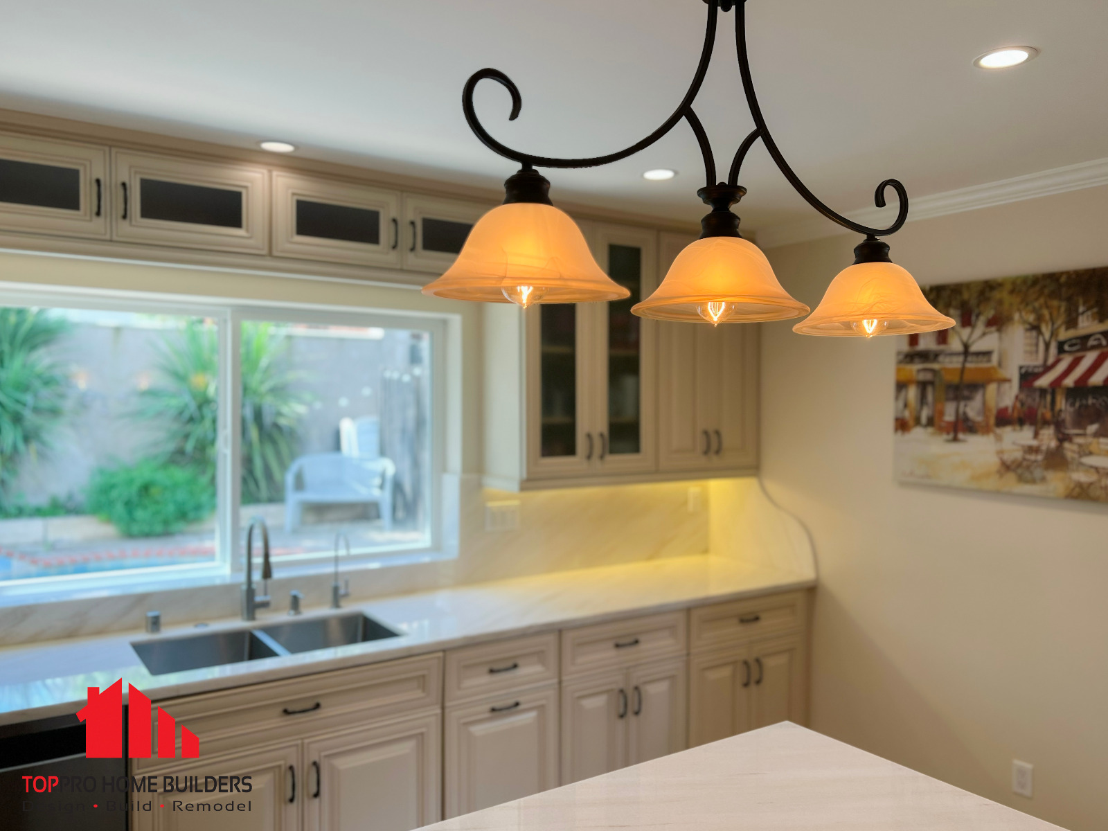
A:
[[[372,617],[353,612],[253,629],[228,629],[164,640],[136,640],[132,642],[131,648],[146,665],[151,675],[165,675],[362,644],[397,637],[399,634]]]

